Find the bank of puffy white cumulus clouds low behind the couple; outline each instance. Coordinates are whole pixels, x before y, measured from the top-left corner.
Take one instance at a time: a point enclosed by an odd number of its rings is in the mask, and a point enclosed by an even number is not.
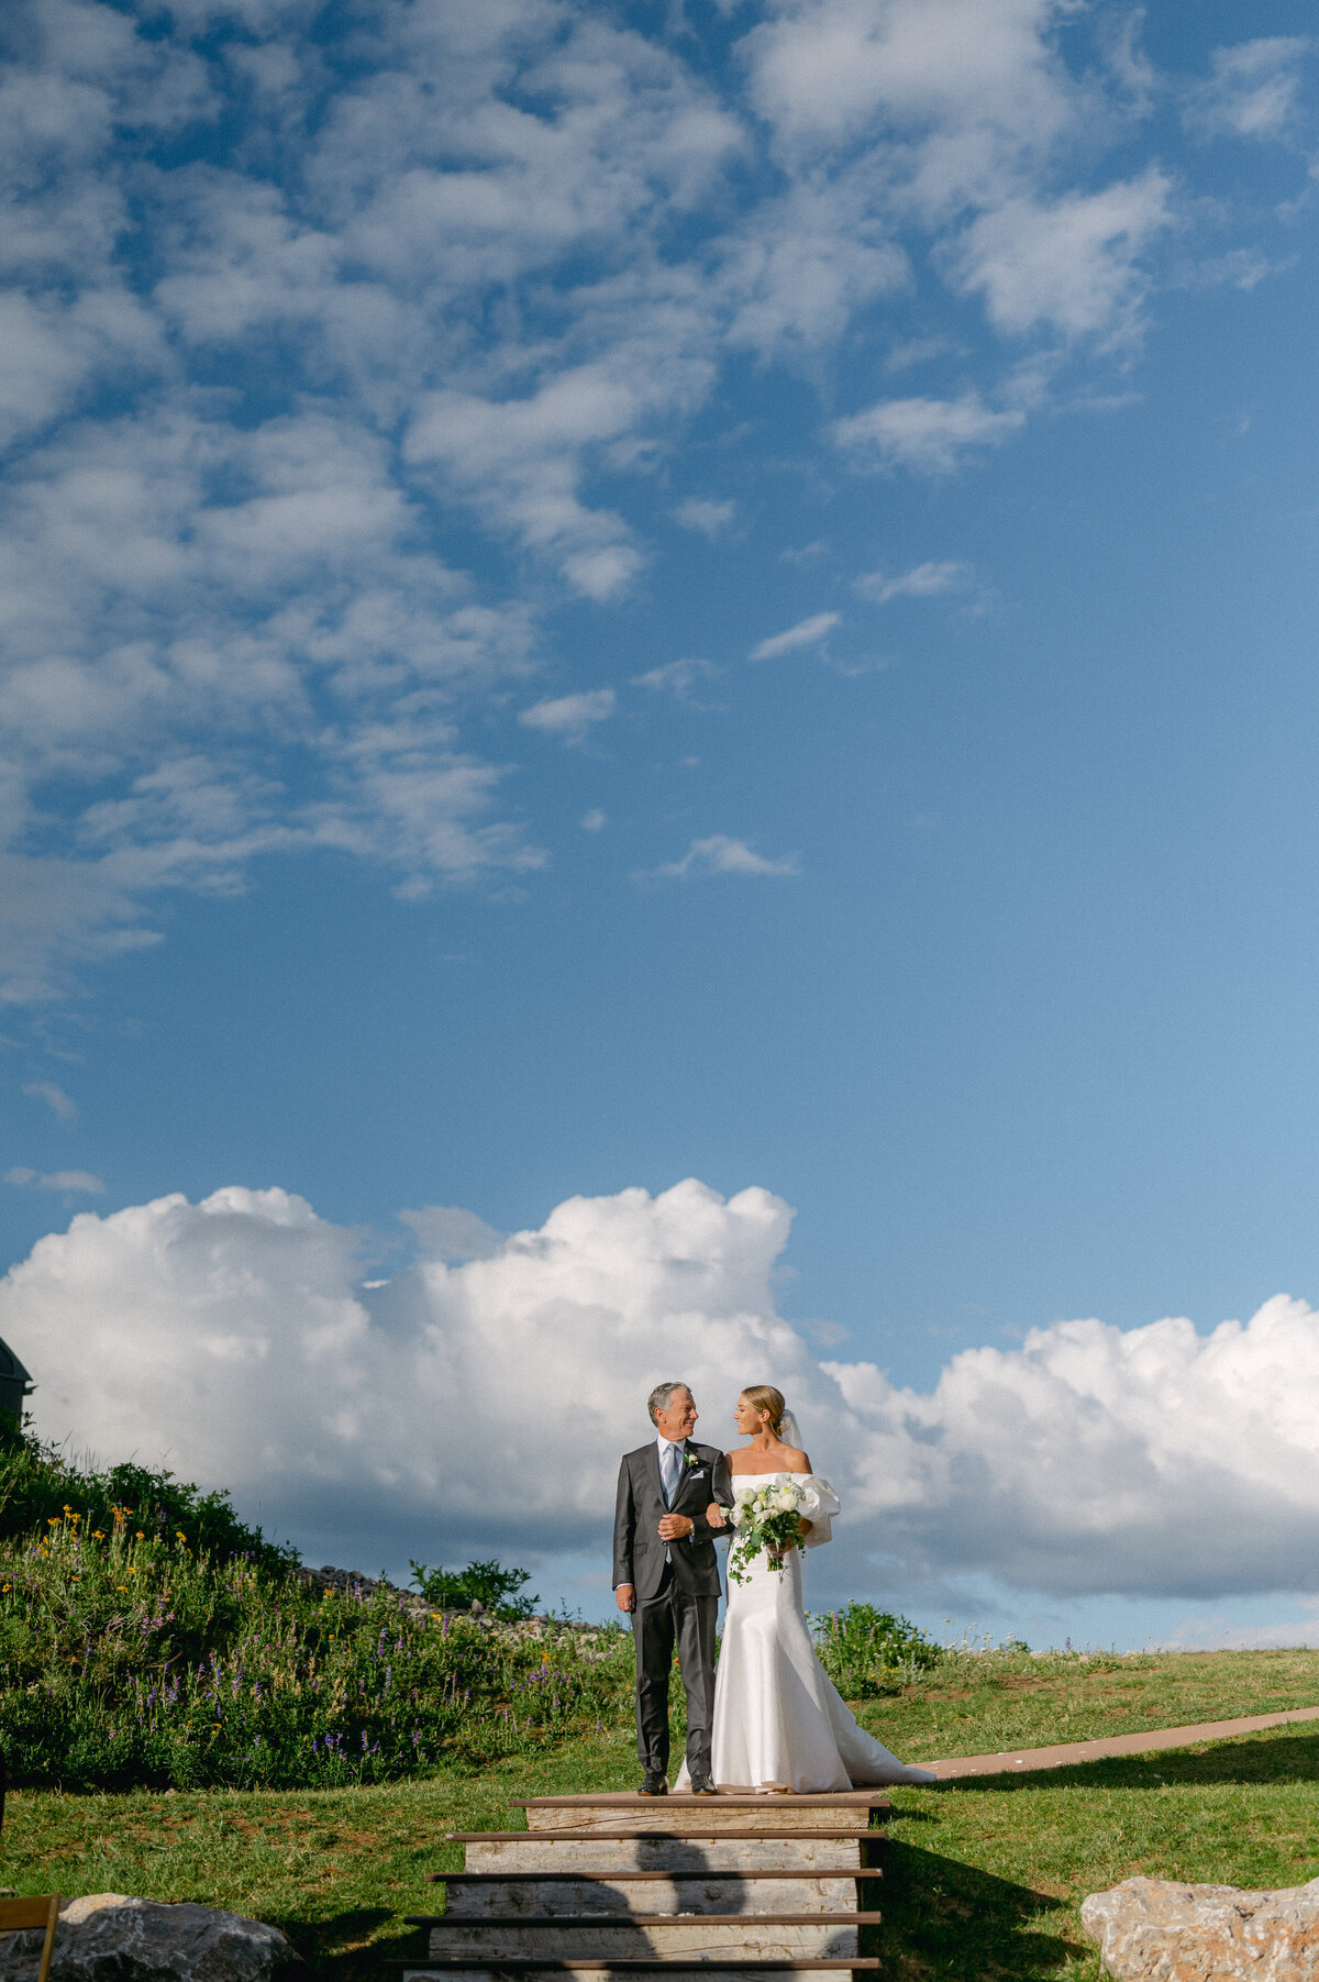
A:
[[[764,1189],[572,1197],[505,1239],[454,1207],[408,1223],[418,1265],[362,1282],[358,1237],[279,1189],[79,1213],[0,1282],[38,1429],[232,1486],[317,1558],[590,1548],[604,1586],[650,1385],[689,1379],[719,1441],[737,1391],[774,1381],[844,1498],[812,1562],[840,1594],[1319,1592],[1305,1302],[1208,1336],[1056,1322],[921,1393],[776,1314],[792,1213]]]

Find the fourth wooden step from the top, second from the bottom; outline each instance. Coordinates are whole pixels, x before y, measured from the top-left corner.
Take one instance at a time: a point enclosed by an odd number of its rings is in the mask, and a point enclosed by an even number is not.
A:
[[[858,1952],[858,1928],[879,1923],[877,1913],[707,1913],[707,1915],[576,1915],[551,1921],[446,1917],[430,1928],[430,1960],[459,1954],[505,1956],[553,1954],[576,1960],[618,1960],[667,1956],[707,1962],[715,1956],[737,1960],[802,1958],[842,1960]],[[418,1925],[418,1923],[412,1923]]]

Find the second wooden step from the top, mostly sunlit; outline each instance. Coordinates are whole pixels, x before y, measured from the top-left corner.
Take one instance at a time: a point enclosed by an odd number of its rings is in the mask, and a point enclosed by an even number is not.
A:
[[[467,1871],[852,1871],[881,1833],[865,1831],[450,1831]],[[430,1873],[444,1879],[444,1873]]]

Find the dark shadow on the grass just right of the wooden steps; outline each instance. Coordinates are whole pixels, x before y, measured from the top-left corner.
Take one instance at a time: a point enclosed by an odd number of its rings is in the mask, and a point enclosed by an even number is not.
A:
[[[885,1982],[1030,1982],[1093,1954],[1050,1923],[1065,1903],[1048,1893],[897,1839],[881,1863],[883,1925],[862,1952],[881,1956]]]

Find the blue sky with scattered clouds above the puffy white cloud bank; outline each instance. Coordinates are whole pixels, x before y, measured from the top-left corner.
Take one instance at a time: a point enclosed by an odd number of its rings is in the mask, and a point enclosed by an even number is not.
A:
[[[115,1219],[230,1185],[351,1235],[349,1302],[416,1282],[430,1207],[757,1187],[796,1213],[770,1334],[919,1395],[1030,1330],[1319,1296],[1309,10],[40,0],[4,36],[2,1326],[143,1393],[48,1379],[42,1429],[337,1546],[196,1395],[151,1405]],[[570,1298],[525,1354],[614,1368]],[[1250,1377],[1287,1534],[1297,1379]],[[442,1500],[353,1540],[489,1540]],[[499,1546],[553,1564],[551,1500]],[[1309,1588],[1210,1550],[1161,1609],[1117,1556],[925,1528],[893,1566],[881,1500],[848,1574],[929,1615],[1264,1629]],[[1141,1550],[1184,1548],[1155,1500]]]

